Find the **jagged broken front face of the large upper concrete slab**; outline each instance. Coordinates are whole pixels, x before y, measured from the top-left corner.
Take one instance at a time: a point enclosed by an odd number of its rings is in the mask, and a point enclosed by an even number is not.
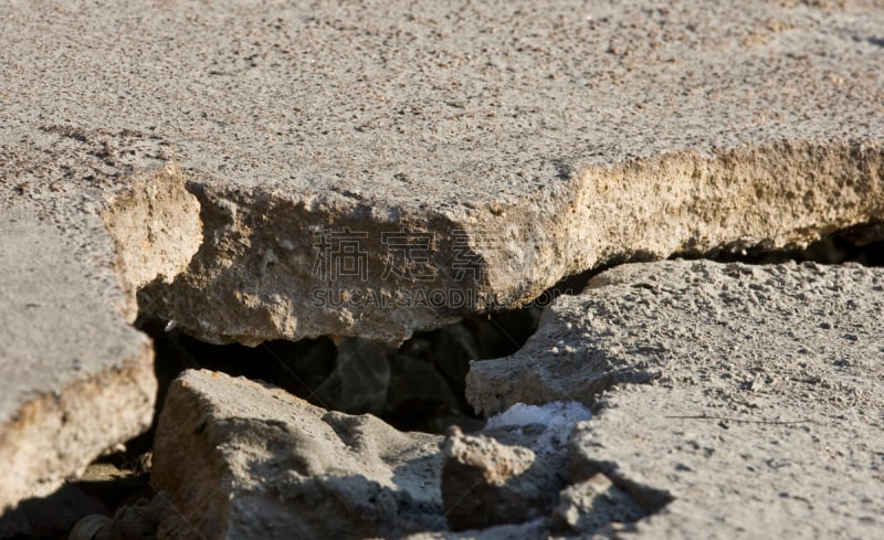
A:
[[[141,309],[217,343],[358,336],[398,343],[414,330],[459,317],[524,306],[560,278],[612,261],[663,258],[714,248],[801,247],[834,231],[884,216],[881,141],[780,141],[701,153],[686,150],[618,165],[591,165],[527,200],[487,208],[424,209],[337,194],[242,189],[194,178],[204,236],[188,269],[143,292]],[[370,284],[391,298],[415,290],[460,292],[465,306],[317,305],[324,287],[366,283],[311,274],[311,231],[407,230],[433,235],[436,279]],[[452,230],[469,237],[475,279],[451,269]],[[483,241],[492,232],[493,245]],[[484,235],[484,236],[483,236]],[[484,243],[483,243],[484,242]],[[386,254],[365,244],[368,266]],[[369,287],[369,288],[370,288]],[[314,301],[312,301],[314,300]]]

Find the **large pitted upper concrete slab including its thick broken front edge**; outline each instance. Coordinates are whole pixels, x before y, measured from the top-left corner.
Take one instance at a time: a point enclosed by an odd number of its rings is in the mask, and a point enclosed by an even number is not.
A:
[[[400,341],[603,262],[880,220],[880,8],[4,2],[1,171],[51,207],[176,160],[206,242],[145,311]]]

